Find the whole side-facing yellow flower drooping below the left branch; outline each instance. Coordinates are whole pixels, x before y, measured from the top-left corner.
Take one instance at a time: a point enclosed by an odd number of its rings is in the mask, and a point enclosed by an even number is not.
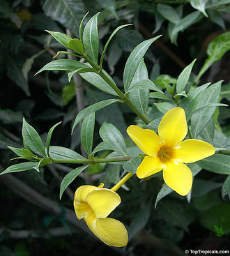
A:
[[[91,232],[108,246],[123,247],[128,243],[128,232],[118,220],[107,218],[121,203],[121,197],[100,186],[81,186],[75,192],[74,206],[77,218],[88,225]]]

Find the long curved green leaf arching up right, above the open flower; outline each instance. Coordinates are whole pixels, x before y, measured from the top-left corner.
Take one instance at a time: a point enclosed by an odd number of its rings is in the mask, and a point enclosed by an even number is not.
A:
[[[128,57],[128,60],[125,63],[125,70],[124,70],[125,91],[128,90],[128,87],[132,82],[132,79],[139,66],[139,63],[141,59],[144,57],[144,54],[146,53],[146,51],[148,50],[148,47],[150,47],[150,45],[158,38],[160,38],[160,36],[156,36],[155,38],[145,40],[144,42],[137,45],[137,47],[135,47],[134,50],[132,50],[130,57]]]

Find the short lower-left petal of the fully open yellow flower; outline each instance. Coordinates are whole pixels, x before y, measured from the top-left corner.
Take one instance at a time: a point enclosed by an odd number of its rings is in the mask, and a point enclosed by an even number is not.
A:
[[[158,157],[146,156],[137,168],[137,176],[139,179],[151,176],[162,170],[162,163]]]

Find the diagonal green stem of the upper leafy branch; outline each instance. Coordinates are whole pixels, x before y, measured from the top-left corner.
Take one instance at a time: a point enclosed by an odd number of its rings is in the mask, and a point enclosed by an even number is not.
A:
[[[88,61],[88,62],[91,64],[91,66],[92,66],[93,68],[95,68],[95,70],[98,70],[98,75],[100,75],[100,77],[102,77],[103,80],[105,80],[105,82],[107,82],[107,84],[109,84],[109,86],[110,86],[112,89],[114,89],[114,91],[116,91],[116,93],[117,93],[118,96],[121,98],[121,100],[123,100],[124,103],[125,103],[126,105],[128,105],[128,107],[130,107],[130,109],[131,109],[133,112],[135,112],[135,113],[137,114],[137,116],[139,116],[139,118],[140,118],[142,121],[144,121],[144,123],[146,123],[146,124],[150,123],[150,121],[148,120],[147,116],[145,116],[144,114],[142,114],[142,113],[137,109],[137,107],[135,107],[135,105],[133,105],[133,104],[131,103],[131,101],[130,101],[128,98],[125,97],[125,94],[124,94],[120,89],[118,89],[118,87],[116,86],[116,84],[114,84],[114,83],[109,79],[109,77],[108,77],[105,73],[102,72],[102,70],[100,70],[100,67],[99,67],[97,64],[93,63],[93,61],[91,61],[91,59],[89,59],[89,57],[87,57],[87,56],[84,56],[84,59],[86,59],[86,61]]]

